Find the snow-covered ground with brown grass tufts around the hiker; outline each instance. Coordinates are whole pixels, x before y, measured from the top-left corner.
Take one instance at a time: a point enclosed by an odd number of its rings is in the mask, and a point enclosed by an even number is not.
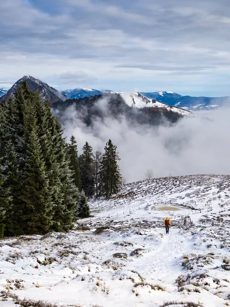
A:
[[[2,239],[0,291],[82,307],[226,306],[229,188],[230,176],[211,175],[132,183],[92,201],[94,216],[67,234]]]

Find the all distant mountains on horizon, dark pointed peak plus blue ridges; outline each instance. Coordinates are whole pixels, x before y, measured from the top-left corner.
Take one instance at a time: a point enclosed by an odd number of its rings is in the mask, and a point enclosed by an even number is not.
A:
[[[31,91],[38,90],[43,99],[48,99],[52,103],[57,101],[65,101],[66,99],[80,99],[85,97],[89,98],[95,95],[103,95],[106,93],[120,95],[125,94],[121,92],[113,92],[110,90],[100,91],[95,89],[73,89],[59,92],[53,87],[49,86],[47,83],[40,81],[39,79],[35,79],[32,76],[24,76],[22,79],[19,79],[8,92],[6,90],[0,89],[0,101],[2,99],[7,100],[10,95],[14,95],[20,83],[22,83],[24,80],[27,81]],[[155,101],[162,102],[170,106],[181,107],[189,111],[215,109],[220,106],[230,104],[230,97],[192,97],[181,96],[173,92],[138,92],[138,94]]]

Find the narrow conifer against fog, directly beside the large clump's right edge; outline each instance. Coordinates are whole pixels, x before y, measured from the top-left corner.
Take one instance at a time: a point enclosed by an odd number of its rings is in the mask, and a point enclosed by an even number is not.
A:
[[[68,154],[70,159],[70,169],[73,171],[73,182],[78,190],[81,189],[81,180],[80,180],[80,168],[78,163],[77,155],[77,142],[74,136],[70,138],[70,144],[68,146]]]

